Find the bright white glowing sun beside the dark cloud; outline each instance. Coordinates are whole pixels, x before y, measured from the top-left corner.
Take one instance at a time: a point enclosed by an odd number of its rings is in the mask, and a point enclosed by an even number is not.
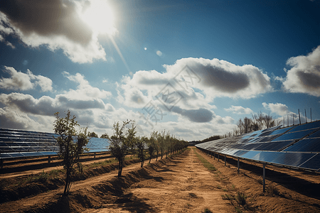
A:
[[[83,12],[82,20],[99,34],[113,35],[117,30],[114,28],[114,13],[105,0],[90,0]]]

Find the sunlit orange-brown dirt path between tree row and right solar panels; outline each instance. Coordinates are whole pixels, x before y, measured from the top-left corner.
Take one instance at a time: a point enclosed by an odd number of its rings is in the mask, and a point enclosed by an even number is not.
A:
[[[125,190],[119,202],[86,212],[235,212],[219,184],[191,150]]]

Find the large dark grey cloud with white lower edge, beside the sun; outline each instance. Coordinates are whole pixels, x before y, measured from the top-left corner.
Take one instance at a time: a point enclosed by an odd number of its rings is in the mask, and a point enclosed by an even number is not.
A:
[[[61,49],[73,62],[106,60],[105,49],[97,39],[97,25],[82,18],[94,3],[94,0],[4,1],[0,6],[0,31],[16,35],[32,48],[45,45],[52,51]]]

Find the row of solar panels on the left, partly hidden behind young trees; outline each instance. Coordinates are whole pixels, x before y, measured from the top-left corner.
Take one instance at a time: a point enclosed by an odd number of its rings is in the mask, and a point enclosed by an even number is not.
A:
[[[57,155],[59,146],[55,133],[0,129],[0,158],[20,158],[41,155]],[[86,148],[89,153],[108,151],[106,138],[90,138]]]

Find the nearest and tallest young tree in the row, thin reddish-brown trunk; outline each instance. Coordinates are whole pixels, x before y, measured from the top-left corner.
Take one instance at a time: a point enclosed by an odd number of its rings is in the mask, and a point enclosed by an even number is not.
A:
[[[53,124],[58,137],[55,138],[59,145],[59,158],[63,159],[63,168],[65,169],[65,190],[63,195],[68,195],[71,187],[71,174],[74,172],[73,166],[78,163],[80,154],[87,150],[84,148],[87,143],[87,128],[77,131],[75,128],[79,126],[75,121],[75,116],[71,118],[68,110],[65,118],[59,117],[59,112],[55,113],[55,121]]]

